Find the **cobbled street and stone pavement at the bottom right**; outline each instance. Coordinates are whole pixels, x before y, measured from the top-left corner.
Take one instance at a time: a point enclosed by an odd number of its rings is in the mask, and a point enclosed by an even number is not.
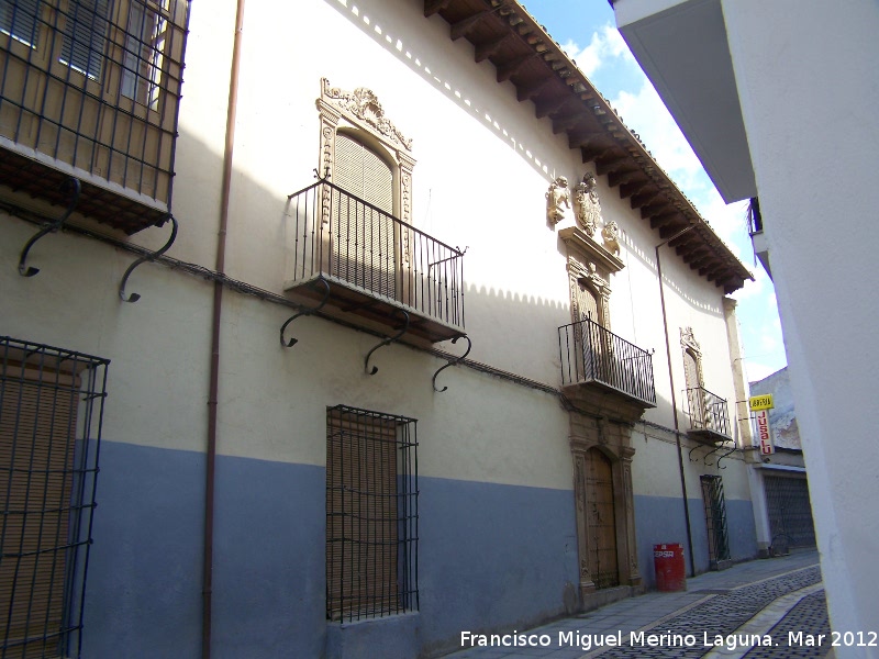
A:
[[[739,563],[688,579],[686,592],[650,592],[505,638],[514,630],[504,630],[486,638],[493,646],[447,659],[831,658],[817,562],[816,551],[803,551]]]

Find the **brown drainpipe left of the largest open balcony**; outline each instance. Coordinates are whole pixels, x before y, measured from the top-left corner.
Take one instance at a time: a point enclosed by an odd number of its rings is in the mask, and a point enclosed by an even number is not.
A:
[[[232,47],[232,68],[229,80],[229,105],[226,109],[225,150],[223,153],[223,189],[220,201],[220,228],[216,241],[216,266],[225,273],[226,228],[229,226],[229,198],[232,187],[232,150],[235,144],[235,115],[238,103],[238,69],[241,67],[241,38],[244,22],[244,0],[238,0],[235,14],[235,37]],[[213,594],[213,514],[214,481],[216,465],[216,413],[220,390],[220,320],[223,313],[223,286],[213,284],[213,323],[211,327],[211,373],[208,394],[208,451],[204,484],[204,566],[202,577],[201,657],[211,657],[211,596]]]

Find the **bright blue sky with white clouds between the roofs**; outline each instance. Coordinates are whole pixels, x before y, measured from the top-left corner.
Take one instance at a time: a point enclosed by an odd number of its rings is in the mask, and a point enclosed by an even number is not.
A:
[[[531,0],[525,8],[546,27],[623,122],[653,154],[714,232],[754,275],[738,301],[746,378],[754,382],[787,365],[772,281],[754,257],[747,203],[725,204],[653,85],[616,30],[608,0]]]

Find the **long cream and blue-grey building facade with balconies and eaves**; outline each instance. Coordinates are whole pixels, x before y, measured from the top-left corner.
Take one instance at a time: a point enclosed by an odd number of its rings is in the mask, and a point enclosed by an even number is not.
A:
[[[756,556],[749,273],[522,7],[3,12],[8,652],[430,657]]]

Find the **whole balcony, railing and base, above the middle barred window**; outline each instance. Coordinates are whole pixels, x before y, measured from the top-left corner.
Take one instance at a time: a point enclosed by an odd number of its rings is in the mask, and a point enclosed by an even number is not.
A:
[[[358,326],[429,343],[464,336],[464,253],[327,180],[291,194],[288,295]]]

